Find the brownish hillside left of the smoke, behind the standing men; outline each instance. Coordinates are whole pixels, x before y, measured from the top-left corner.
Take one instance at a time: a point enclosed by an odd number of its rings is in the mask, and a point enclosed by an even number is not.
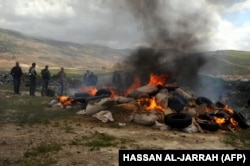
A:
[[[8,70],[15,61],[20,61],[24,68],[32,62],[38,68],[46,64],[55,68],[112,68],[122,61],[125,53],[105,46],[56,41],[0,29],[0,70]]]

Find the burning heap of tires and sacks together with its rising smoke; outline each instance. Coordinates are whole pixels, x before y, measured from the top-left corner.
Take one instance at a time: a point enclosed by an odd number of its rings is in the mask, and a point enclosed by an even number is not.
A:
[[[113,88],[90,87],[73,96],[70,102],[81,103],[83,113],[92,116],[123,104],[128,110],[133,109],[127,118],[130,122],[186,132],[249,127],[228,105],[214,103],[176,86],[199,87],[199,69],[206,62],[200,52],[209,46],[211,34],[209,12],[197,7],[182,10],[181,3],[175,1],[140,0],[126,1],[126,4],[138,20],[138,26],[142,26],[146,45],[151,47],[136,50],[124,62],[134,69],[134,83],[123,90],[124,94],[115,93],[117,89]],[[188,9],[192,7],[192,3],[187,5]],[[63,105],[68,105],[68,100],[66,103]]]

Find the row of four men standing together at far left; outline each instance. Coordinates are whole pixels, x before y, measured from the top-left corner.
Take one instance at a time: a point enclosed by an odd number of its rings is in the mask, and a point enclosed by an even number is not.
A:
[[[13,77],[14,84],[14,93],[20,94],[21,78],[23,75],[22,68],[19,65],[19,62],[16,62],[16,65],[11,69],[10,74]],[[64,68],[61,67],[61,70],[58,72],[58,84],[59,84],[59,95],[64,93],[64,84],[66,81],[66,74]],[[41,96],[48,96],[49,94],[49,81],[51,79],[51,73],[49,71],[49,66],[46,65],[44,69],[41,70],[41,79],[42,79],[42,89]],[[37,86],[37,72],[36,72],[36,63],[32,63],[29,68],[29,95],[35,96]]]

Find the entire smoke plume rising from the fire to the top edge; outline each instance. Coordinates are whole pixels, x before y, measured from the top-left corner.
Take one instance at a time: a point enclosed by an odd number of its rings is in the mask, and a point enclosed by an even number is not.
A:
[[[205,59],[209,17],[206,11],[184,7],[183,1],[127,0],[149,47],[136,50],[127,59],[145,82],[150,73],[167,74],[169,81],[197,86]],[[199,3],[199,2],[198,2]],[[190,9],[188,10],[188,7]]]

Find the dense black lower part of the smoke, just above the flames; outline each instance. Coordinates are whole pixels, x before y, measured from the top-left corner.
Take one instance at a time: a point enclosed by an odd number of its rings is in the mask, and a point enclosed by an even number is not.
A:
[[[206,59],[200,53],[140,48],[129,56],[127,63],[133,66],[134,74],[140,77],[142,84],[147,84],[153,73],[167,75],[166,84],[177,83],[193,88],[199,84],[198,71]]]

